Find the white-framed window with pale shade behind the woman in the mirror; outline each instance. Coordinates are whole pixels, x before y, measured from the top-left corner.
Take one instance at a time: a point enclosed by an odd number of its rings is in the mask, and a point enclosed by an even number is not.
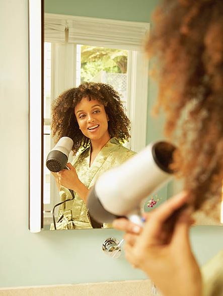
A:
[[[104,82],[120,93],[132,125],[131,141],[126,145],[141,150],[145,146],[148,71],[141,39],[148,24],[64,17],[45,15],[44,160],[54,146],[50,136],[52,101],[84,81]],[[51,216],[59,201],[54,178],[44,164],[44,218]]]

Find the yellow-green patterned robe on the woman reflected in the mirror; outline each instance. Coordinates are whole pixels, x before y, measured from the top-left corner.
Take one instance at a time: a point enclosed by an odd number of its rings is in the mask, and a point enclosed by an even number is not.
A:
[[[101,149],[90,167],[90,149],[88,147],[72,161],[80,181],[89,189],[98,177],[107,170],[117,167],[132,157],[135,152],[122,146],[117,138],[111,138]],[[61,201],[71,198],[70,192],[63,186],[60,189]],[[60,217],[63,215],[63,218]],[[60,206],[56,229],[89,229],[93,228],[88,209],[83,199],[75,193],[75,200],[66,201]],[[104,228],[108,225],[104,224]],[[51,225],[50,229],[54,229]]]

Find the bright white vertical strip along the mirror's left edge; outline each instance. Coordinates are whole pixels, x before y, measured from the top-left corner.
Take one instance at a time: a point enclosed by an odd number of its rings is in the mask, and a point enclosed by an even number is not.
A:
[[[29,0],[29,229],[41,230],[42,41],[40,0]]]

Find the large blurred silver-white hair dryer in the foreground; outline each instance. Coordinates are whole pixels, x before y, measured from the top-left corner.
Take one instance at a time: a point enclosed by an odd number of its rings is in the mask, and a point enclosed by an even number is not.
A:
[[[154,142],[121,166],[104,173],[89,192],[89,214],[99,223],[127,216],[141,224],[137,215],[141,201],[172,178],[170,164],[175,150],[169,142]]]

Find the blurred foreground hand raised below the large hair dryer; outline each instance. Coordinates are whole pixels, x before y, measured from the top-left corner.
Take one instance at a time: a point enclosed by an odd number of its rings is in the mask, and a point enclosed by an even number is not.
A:
[[[125,231],[125,256],[142,269],[165,296],[200,296],[201,274],[191,251],[191,209],[183,210],[171,225],[170,217],[188,201],[182,192],[147,214],[143,229],[127,219],[116,219],[114,228]]]

